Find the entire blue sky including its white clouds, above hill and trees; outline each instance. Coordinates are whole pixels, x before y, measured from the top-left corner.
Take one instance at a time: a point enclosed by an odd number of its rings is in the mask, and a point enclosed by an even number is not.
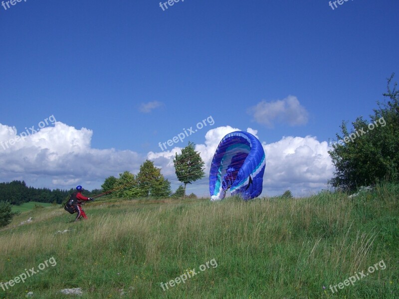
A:
[[[269,152],[263,195],[319,190],[333,170],[323,142],[370,115],[398,72],[398,10],[396,0],[0,6],[0,141],[57,121],[0,147],[0,181],[90,189],[151,158],[176,189],[179,148],[195,142],[208,171],[218,141],[250,128]],[[209,116],[190,139],[158,146]],[[191,190],[205,195],[206,179]]]

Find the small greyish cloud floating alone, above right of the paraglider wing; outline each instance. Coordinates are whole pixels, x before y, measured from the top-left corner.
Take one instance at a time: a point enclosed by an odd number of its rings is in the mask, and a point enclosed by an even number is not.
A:
[[[294,127],[305,125],[308,122],[308,112],[295,96],[288,96],[274,102],[261,101],[250,107],[248,113],[258,124],[263,124],[268,128],[273,128],[274,123],[288,124]]]

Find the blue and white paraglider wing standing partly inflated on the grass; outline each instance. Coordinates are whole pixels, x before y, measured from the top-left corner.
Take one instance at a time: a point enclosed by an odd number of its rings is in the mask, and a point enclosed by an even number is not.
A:
[[[210,200],[221,200],[230,189],[231,195],[243,200],[262,193],[266,156],[262,144],[250,133],[235,131],[220,141],[209,171]]]

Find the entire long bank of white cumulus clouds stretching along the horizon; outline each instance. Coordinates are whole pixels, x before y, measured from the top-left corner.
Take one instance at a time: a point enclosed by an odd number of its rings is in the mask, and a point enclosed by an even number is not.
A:
[[[208,173],[213,154],[220,140],[228,133],[239,131],[230,126],[206,132],[203,144],[197,144],[205,162],[205,177],[187,186],[188,193],[208,196]],[[257,130],[247,128],[257,135]],[[175,174],[173,158],[186,146],[141,155],[131,150],[93,149],[93,131],[75,129],[61,122],[16,141],[15,128],[0,124],[0,181],[25,180],[28,185],[69,189],[76,184],[98,188],[104,179],[124,170],[138,173],[146,158],[162,168],[162,174],[172,182],[172,189],[181,184]],[[15,140],[10,145],[10,140]],[[262,141],[261,141],[262,142]],[[289,189],[296,196],[308,195],[325,187],[333,175],[333,164],[327,142],[316,137],[283,137],[262,143],[266,152],[263,193],[282,194]]]

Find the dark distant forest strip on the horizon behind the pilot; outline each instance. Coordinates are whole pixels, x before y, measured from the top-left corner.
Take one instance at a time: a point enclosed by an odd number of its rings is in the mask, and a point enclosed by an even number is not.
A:
[[[61,204],[74,191],[73,188],[69,190],[50,190],[47,188],[28,187],[24,181],[14,180],[0,183],[0,201],[9,201],[15,205],[29,201]],[[100,193],[101,190],[99,189],[94,189],[91,192],[85,190],[83,195],[89,197]]]

